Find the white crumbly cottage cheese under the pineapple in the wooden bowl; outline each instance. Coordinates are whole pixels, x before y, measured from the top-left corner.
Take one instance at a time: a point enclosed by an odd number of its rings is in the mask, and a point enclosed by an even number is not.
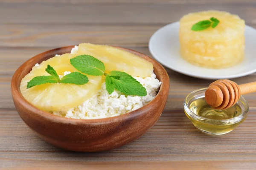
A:
[[[70,53],[75,54],[77,50],[78,46],[75,46]],[[70,74],[70,72],[65,71],[64,75],[59,75],[59,78],[61,79],[67,74]],[[117,90],[113,91],[112,94],[108,94],[104,82],[97,94],[81,105],[65,111],[53,111],[52,114],[75,119],[100,119],[118,116],[141,108],[154,99],[157,91],[159,91],[161,82],[156,78],[153,71],[151,77],[134,78],[146,88],[147,96],[127,96]]]

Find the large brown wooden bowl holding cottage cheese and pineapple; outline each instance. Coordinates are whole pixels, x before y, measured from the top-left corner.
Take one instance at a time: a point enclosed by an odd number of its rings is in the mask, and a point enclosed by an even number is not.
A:
[[[118,47],[150,61],[162,85],[151,102],[135,111],[104,119],[72,119],[41,111],[23,97],[20,92],[20,82],[32,67],[55,54],[70,53],[73,47],[56,48],[38,54],[17,69],[12,77],[11,90],[15,108],[21,119],[39,137],[66,150],[104,151],[121,147],[138,139],[157,122],[163,112],[169,92],[169,77],[162,65],[137,51]]]

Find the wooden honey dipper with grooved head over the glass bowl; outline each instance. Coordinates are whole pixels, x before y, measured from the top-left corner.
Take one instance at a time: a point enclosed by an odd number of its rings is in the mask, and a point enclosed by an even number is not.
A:
[[[220,79],[209,85],[205,100],[214,109],[227,109],[236,104],[243,94],[256,92],[256,82],[237,85],[228,79]]]

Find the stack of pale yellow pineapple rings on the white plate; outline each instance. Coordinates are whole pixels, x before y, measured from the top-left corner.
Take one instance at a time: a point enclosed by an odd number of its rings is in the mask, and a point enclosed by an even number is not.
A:
[[[215,28],[192,31],[193,24],[217,18]],[[244,58],[244,20],[223,11],[190,13],[180,19],[180,54],[188,62],[207,68],[226,68]]]

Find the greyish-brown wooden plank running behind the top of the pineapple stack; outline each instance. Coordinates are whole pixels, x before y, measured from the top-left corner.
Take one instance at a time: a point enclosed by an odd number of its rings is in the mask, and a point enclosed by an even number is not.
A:
[[[256,6],[250,4],[51,4],[2,3],[0,23],[167,24],[189,12],[220,10],[255,23]],[[51,26],[51,25],[50,25]],[[50,27],[48,26],[48,27]],[[47,27],[47,26],[46,26]],[[45,27],[44,27],[45,28]]]

